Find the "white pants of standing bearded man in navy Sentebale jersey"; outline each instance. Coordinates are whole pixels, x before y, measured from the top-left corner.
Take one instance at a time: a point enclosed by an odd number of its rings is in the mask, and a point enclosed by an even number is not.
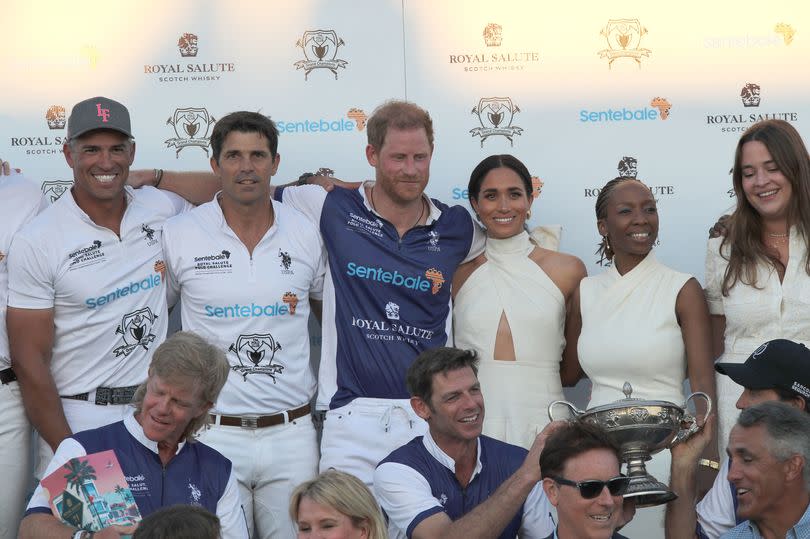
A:
[[[409,399],[354,399],[326,412],[320,471],[335,468],[371,488],[377,464],[426,432],[427,423],[416,415]]]

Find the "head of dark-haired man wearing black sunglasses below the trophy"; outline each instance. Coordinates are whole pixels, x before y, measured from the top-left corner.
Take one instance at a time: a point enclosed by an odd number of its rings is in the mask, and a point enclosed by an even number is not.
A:
[[[569,423],[554,431],[540,454],[543,490],[557,508],[557,529],[546,539],[621,539],[623,494],[619,447],[596,425]]]

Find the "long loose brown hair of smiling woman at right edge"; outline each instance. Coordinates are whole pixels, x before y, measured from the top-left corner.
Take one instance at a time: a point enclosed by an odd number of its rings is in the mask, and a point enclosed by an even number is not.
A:
[[[765,120],[749,127],[734,152],[732,182],[737,196],[737,207],[728,221],[728,235],[723,238],[723,247],[730,247],[728,266],[723,277],[722,292],[728,296],[729,290],[737,284],[756,287],[757,263],[764,262],[772,267],[781,266],[779,258],[769,253],[762,243],[762,217],[751,206],[742,188],[742,150],[748,142],[761,142],[768,149],[779,171],[785,176],[793,190],[788,203],[788,226],[795,225],[802,234],[805,246],[810,248],[810,156],[801,135],[784,120]],[[723,258],[726,258],[723,255]],[[805,261],[804,271],[810,275],[810,257]]]

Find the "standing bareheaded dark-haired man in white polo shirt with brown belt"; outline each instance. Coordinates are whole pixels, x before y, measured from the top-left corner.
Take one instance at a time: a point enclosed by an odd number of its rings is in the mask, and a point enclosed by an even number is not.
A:
[[[224,116],[211,148],[222,191],[163,231],[183,328],[227,351],[231,365],[201,440],[234,463],[254,536],[294,537],[290,494],[318,466],[307,320],[322,296],[323,246],[315,225],[270,197],[281,157],[269,118]]]

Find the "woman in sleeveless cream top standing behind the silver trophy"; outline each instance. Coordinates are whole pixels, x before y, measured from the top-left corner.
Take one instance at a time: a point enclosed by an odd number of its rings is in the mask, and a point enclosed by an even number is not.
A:
[[[684,402],[687,374],[694,391],[714,399],[709,313],[703,290],[690,275],[658,262],[652,246],[658,213],[649,188],[635,178],[609,181],[596,200],[600,253],[612,261],[603,273],[579,285],[578,358],[593,383],[589,407],[633,397]],[[717,458],[716,444],[711,456]],[[669,451],[647,471],[669,482]],[[664,505],[640,510],[622,530],[629,537],[664,537]]]

